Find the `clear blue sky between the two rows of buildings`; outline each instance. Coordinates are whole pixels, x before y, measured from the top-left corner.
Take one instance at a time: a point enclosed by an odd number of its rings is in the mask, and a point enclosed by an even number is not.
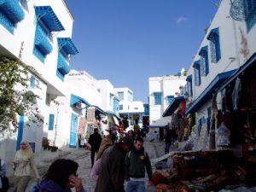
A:
[[[148,102],[148,78],[188,69],[219,0],[67,0],[79,49],[71,67]]]

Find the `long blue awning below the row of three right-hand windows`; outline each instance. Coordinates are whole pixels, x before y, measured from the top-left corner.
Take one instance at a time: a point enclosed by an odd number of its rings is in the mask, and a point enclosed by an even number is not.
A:
[[[225,79],[229,78],[230,75],[234,74],[236,70],[229,72],[219,73],[215,79],[212,80],[211,84],[207,86],[200,96],[192,103],[192,105],[186,110],[185,115],[195,112],[198,108],[212,98],[212,93],[218,89],[218,86],[224,82]]]

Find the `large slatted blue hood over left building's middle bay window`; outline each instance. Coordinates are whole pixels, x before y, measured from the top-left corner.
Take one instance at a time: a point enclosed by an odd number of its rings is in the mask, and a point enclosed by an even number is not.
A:
[[[44,26],[49,29],[49,32],[61,32],[65,30],[50,6],[37,6],[35,7],[35,13],[37,20],[41,20]]]

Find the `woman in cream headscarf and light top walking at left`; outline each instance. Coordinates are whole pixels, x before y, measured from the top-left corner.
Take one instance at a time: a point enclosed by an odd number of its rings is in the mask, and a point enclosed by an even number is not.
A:
[[[31,170],[36,174],[39,181],[38,169],[35,165],[34,154],[29,143],[22,141],[20,150],[15,154],[15,190],[14,192],[25,192],[27,183],[31,178]]]

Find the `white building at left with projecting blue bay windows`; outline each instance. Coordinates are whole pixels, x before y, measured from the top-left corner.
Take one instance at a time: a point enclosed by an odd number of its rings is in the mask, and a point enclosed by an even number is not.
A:
[[[40,153],[42,139],[49,133],[49,113],[57,113],[52,111],[52,99],[67,95],[63,79],[70,70],[69,55],[78,50],[71,39],[73,16],[63,0],[2,1],[0,15],[0,55],[17,59],[23,43],[21,60],[36,69],[30,91],[40,96],[37,107],[44,119],[44,124],[28,128],[26,117],[20,116],[15,136],[1,138],[0,154],[9,162],[22,139],[31,143],[37,156]]]

